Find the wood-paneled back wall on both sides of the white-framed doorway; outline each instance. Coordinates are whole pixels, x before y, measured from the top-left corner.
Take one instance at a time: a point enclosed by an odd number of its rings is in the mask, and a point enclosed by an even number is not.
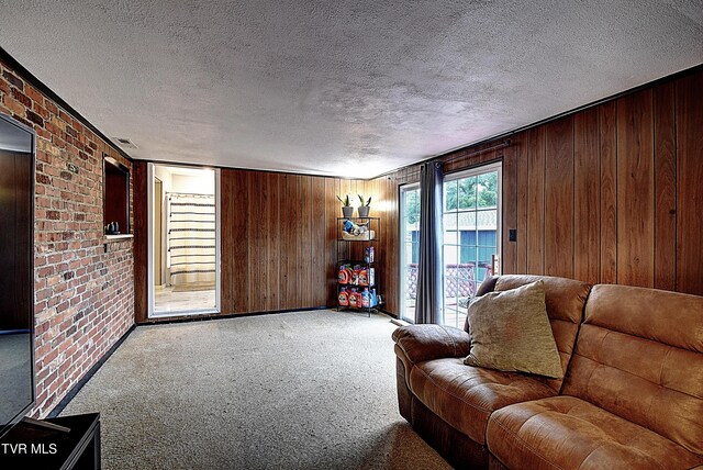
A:
[[[366,195],[367,183],[235,169],[220,175],[221,314],[336,305],[336,217],[342,215],[336,195]],[[145,163],[135,163],[134,178],[135,307],[136,322],[144,323],[149,321]]]

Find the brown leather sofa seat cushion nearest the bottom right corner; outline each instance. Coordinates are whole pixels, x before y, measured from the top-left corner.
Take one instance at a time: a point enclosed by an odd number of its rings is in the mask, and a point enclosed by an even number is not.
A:
[[[511,469],[677,469],[703,463],[678,444],[573,396],[517,403],[491,415],[491,454]]]

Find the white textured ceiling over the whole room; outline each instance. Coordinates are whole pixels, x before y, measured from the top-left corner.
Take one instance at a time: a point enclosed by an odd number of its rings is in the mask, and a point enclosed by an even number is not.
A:
[[[371,177],[703,63],[701,0],[3,2],[135,158]]]

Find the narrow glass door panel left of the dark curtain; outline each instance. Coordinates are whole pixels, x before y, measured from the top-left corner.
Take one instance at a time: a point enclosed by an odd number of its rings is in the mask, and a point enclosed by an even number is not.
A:
[[[400,316],[414,322],[420,261],[420,186],[400,188]]]

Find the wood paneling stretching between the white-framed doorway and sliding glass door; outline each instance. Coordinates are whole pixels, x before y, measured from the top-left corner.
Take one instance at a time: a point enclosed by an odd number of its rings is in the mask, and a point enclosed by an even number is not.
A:
[[[248,170],[221,170],[222,313],[271,312],[336,305],[336,195],[371,197],[387,249],[377,253],[381,294],[398,280],[398,187],[372,181]],[[359,254],[360,256],[360,254]],[[394,272],[394,275],[393,275]]]

